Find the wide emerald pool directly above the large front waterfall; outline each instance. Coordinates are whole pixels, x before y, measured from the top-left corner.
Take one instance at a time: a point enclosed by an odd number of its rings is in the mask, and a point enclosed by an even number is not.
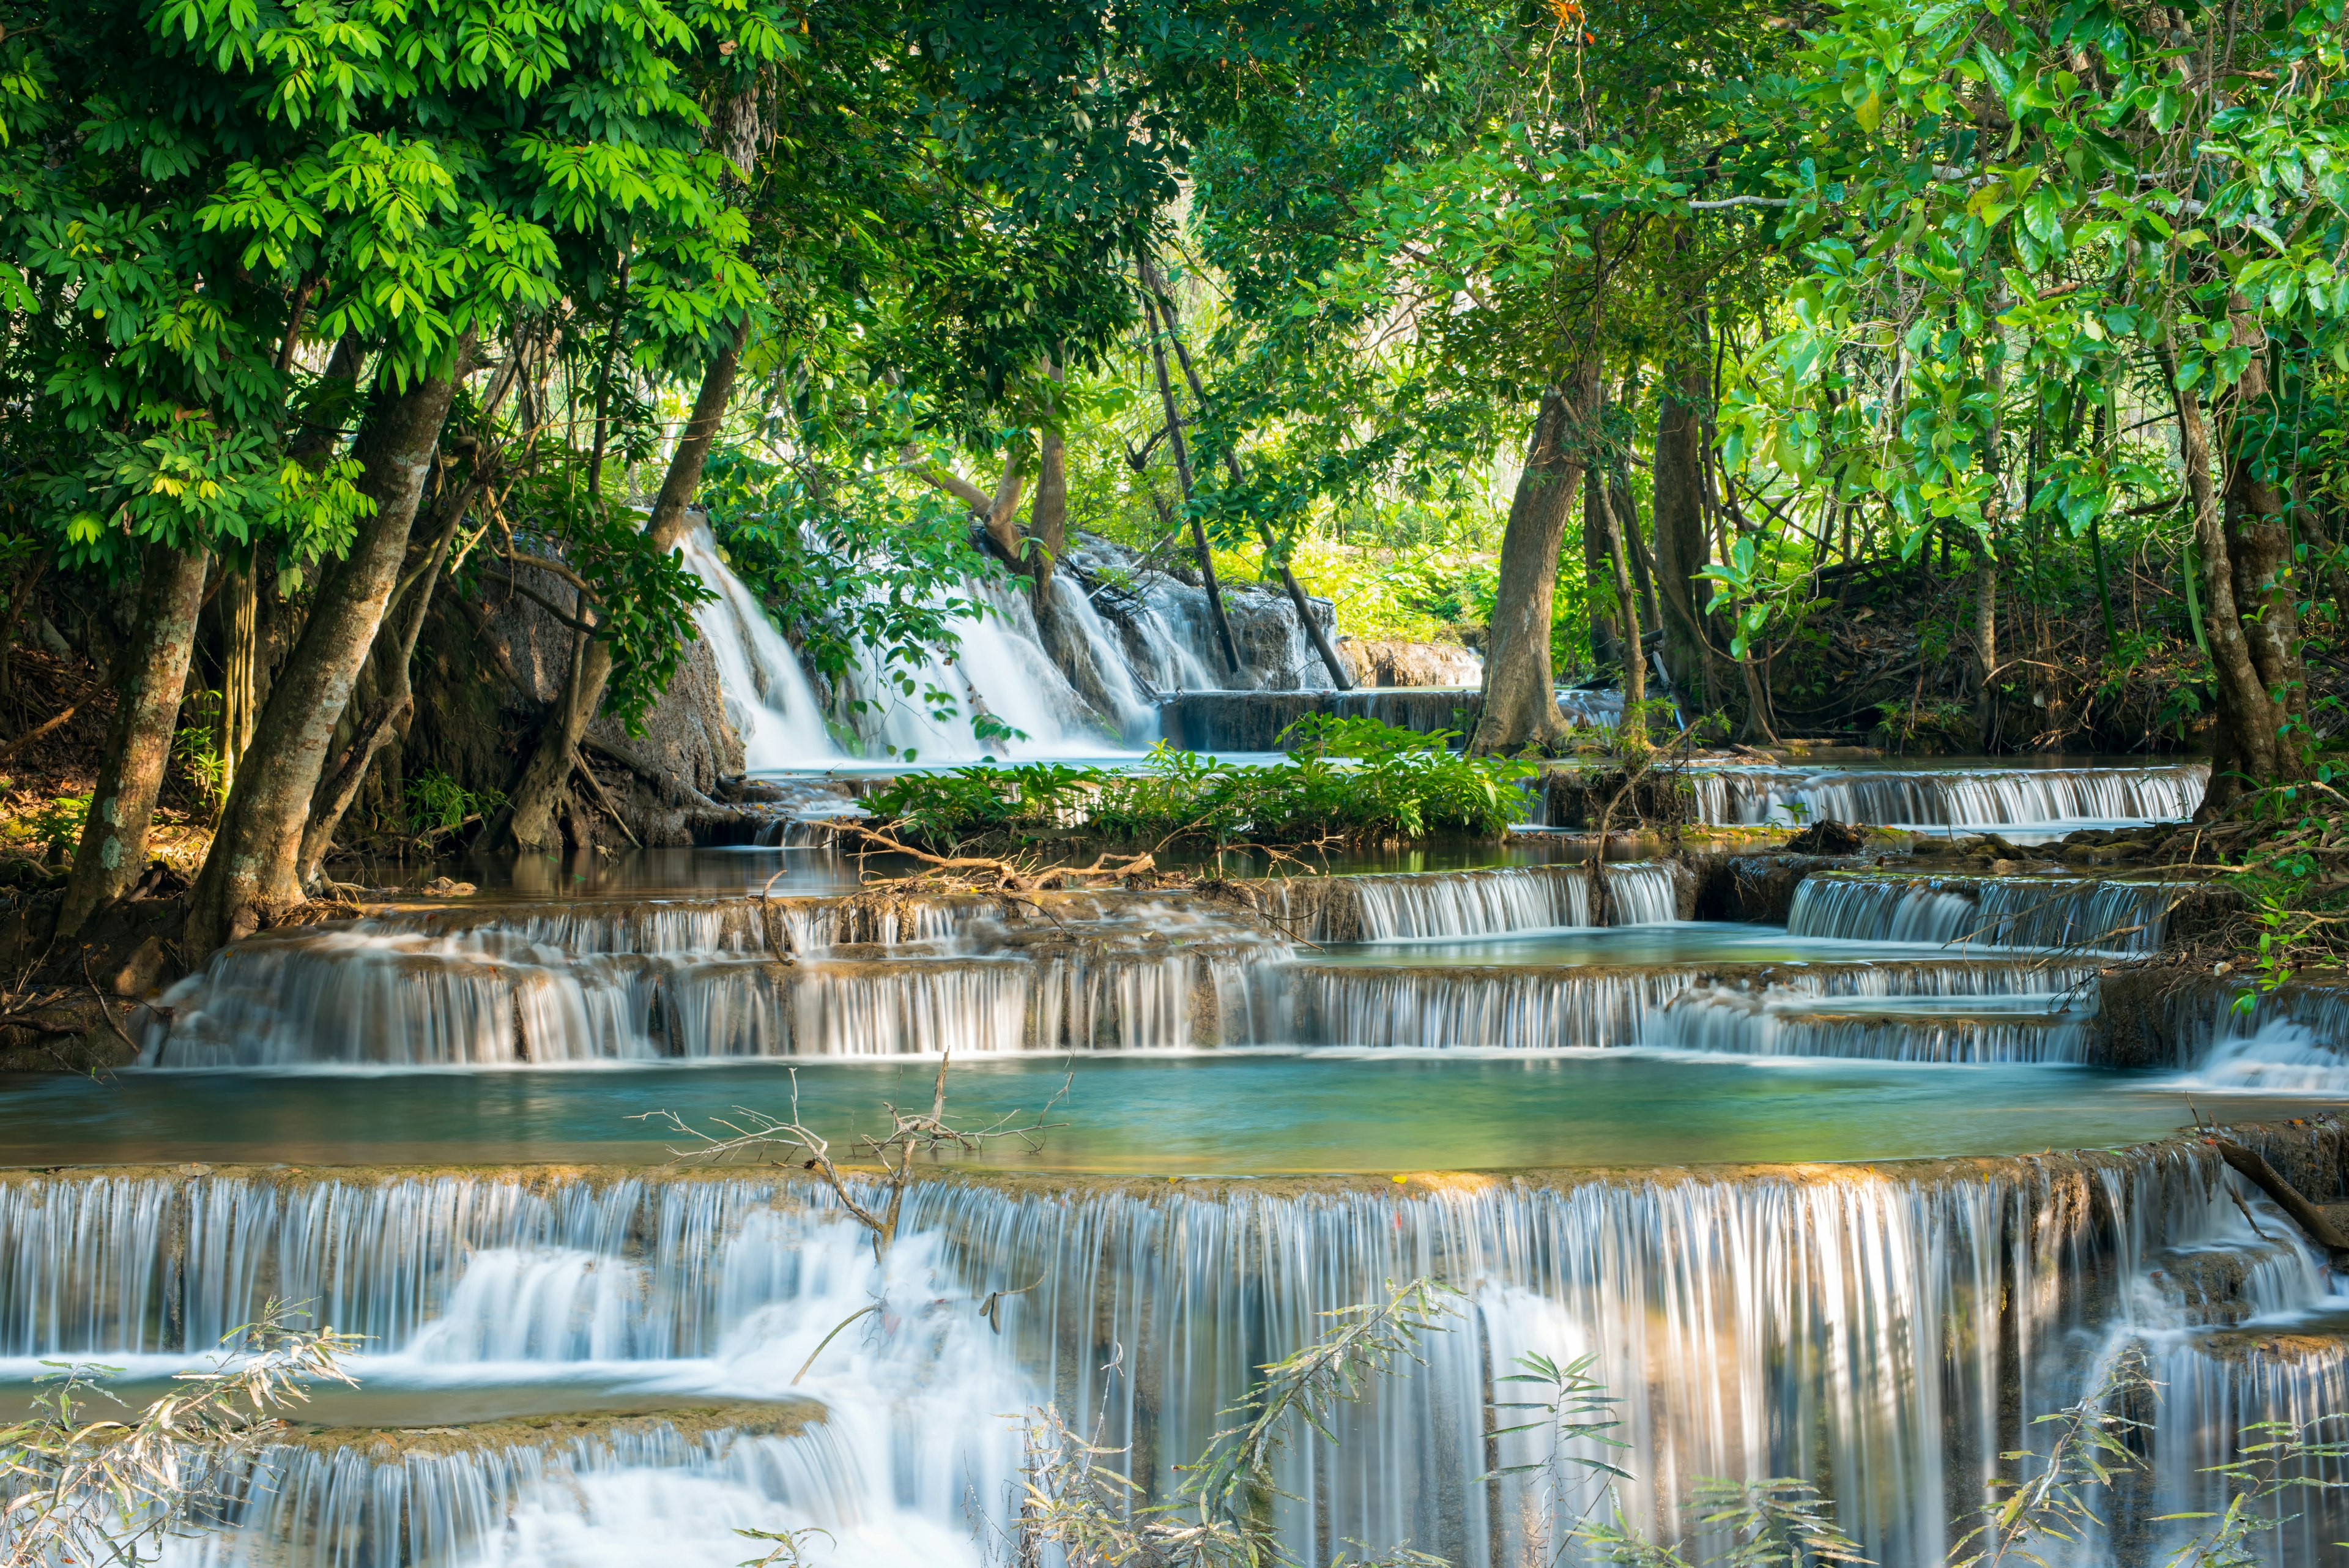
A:
[[[935,1070],[935,1060],[801,1065],[801,1119],[827,1135],[871,1128],[883,1100],[928,1100]],[[2086,1067],[1635,1051],[972,1060],[954,1065],[949,1093],[963,1124],[1038,1114],[1055,1124],[1036,1150],[991,1145],[994,1166],[1153,1175],[2018,1154],[2140,1143],[2192,1119],[2185,1093],[2163,1079]],[[789,1070],[778,1063],[124,1072],[106,1084],[26,1074],[0,1079],[0,1150],[12,1166],[660,1164],[674,1138],[632,1117],[785,1114],[789,1095]],[[2309,1114],[2311,1105],[2232,1098],[2227,1117]]]

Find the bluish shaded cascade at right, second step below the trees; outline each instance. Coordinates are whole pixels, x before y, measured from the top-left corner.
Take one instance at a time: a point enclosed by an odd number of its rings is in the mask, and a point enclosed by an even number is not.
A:
[[[1905,877],[1816,872],[1795,886],[1792,936],[2159,952],[2192,882],[2088,877]]]

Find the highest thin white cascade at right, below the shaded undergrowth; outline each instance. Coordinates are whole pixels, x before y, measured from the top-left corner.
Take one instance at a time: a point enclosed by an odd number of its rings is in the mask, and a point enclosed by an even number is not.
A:
[[[1717,825],[2027,827],[2194,816],[2210,764],[2100,769],[1705,769],[1696,813]]]

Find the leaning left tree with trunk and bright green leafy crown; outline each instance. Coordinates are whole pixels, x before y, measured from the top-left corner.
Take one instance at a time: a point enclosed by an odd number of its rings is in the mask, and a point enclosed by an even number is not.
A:
[[[611,26],[601,9],[517,33],[500,7],[289,16],[204,0],[129,33],[237,160],[195,207],[228,237],[284,339],[350,343],[364,411],[350,458],[371,501],[270,689],[188,914],[193,950],[298,903],[303,825],[411,548],[458,383],[503,327],[625,270],[681,331],[740,310],[740,221],[705,146],[702,80],[796,45],[773,7]],[[334,71],[319,71],[334,61]],[[186,113],[186,110],[181,110]],[[303,310],[289,306],[301,301]],[[291,362],[291,353],[280,355]],[[319,442],[331,456],[334,437]]]

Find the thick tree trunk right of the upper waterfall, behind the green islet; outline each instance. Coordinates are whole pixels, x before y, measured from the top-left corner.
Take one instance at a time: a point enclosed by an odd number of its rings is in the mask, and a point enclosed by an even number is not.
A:
[[[1557,548],[1583,480],[1581,435],[1595,402],[1597,364],[1583,364],[1569,386],[1541,393],[1534,440],[1501,534],[1501,581],[1485,642],[1485,701],[1470,738],[1475,752],[1553,745],[1567,733],[1550,675],[1550,607],[1557,597]]]

